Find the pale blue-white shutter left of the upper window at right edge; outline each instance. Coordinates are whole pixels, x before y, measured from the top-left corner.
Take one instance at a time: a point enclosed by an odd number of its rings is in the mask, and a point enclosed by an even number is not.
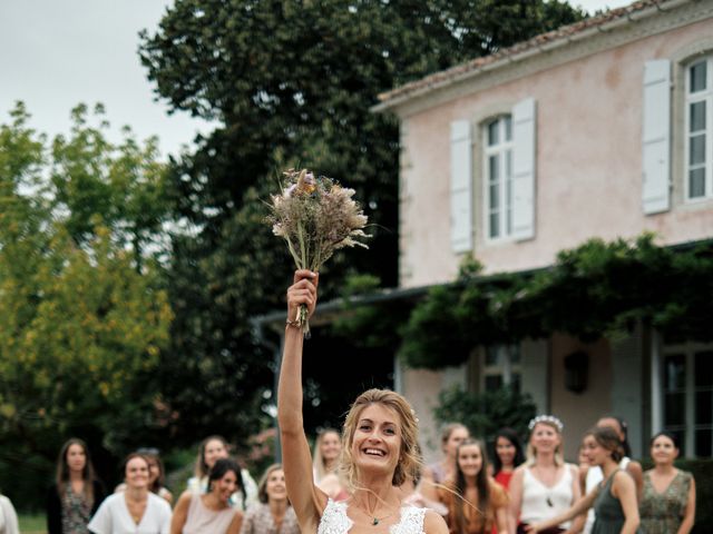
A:
[[[671,61],[656,59],[644,66],[642,125],[645,214],[671,208]]]

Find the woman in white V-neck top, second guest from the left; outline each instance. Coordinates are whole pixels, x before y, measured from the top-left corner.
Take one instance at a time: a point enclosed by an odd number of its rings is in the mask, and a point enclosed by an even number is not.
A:
[[[126,490],[104,500],[89,522],[95,534],[168,534],[170,505],[149,491],[148,459],[129,454],[124,462]]]

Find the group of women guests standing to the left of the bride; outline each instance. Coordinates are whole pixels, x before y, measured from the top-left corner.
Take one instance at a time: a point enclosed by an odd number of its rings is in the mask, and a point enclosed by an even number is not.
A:
[[[256,484],[229,457],[221,436],[199,446],[194,476],[174,503],[157,449],[138,449],[123,464],[124,482],[110,495],[97,479],[85,442],[60,451],[47,494],[49,534],[297,534],[284,472],[273,464]],[[173,506],[173,507],[172,507]],[[0,531],[1,532],[1,531]]]

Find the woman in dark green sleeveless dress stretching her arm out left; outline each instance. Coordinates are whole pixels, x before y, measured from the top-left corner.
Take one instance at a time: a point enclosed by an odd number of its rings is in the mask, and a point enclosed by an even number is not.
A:
[[[616,432],[605,426],[590,429],[585,434],[584,453],[589,464],[602,467],[604,481],[579,498],[568,511],[549,521],[531,525],[528,532],[536,533],[551,528],[594,507],[596,520],[592,534],[638,533],[636,486],[632,476],[619,469],[618,463],[624,455],[624,449]]]

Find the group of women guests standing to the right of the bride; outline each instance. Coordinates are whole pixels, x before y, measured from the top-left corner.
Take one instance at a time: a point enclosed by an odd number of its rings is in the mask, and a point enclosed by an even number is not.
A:
[[[510,533],[688,533],[695,516],[695,483],[674,467],[676,438],[651,441],[654,467],[642,473],[628,454],[626,426],[603,417],[583,438],[579,465],[563,458],[561,421],[530,421],[525,451],[515,432],[497,433],[492,465],[486,445],[462,426],[446,428],[443,459],[426,471],[451,534]],[[449,473],[438,482],[438,473]],[[495,532],[495,531],[494,531]]]

